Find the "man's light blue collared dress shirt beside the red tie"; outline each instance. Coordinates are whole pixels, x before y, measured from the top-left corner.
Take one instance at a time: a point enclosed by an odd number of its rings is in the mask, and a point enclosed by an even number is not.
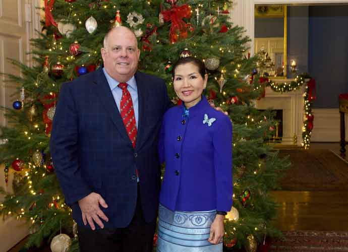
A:
[[[104,75],[106,77],[107,83],[109,84],[109,87],[112,92],[113,99],[116,102],[116,105],[120,112],[120,104],[121,104],[121,98],[122,98],[122,89],[118,87],[120,82],[117,80],[114,80],[111,76],[108,75],[108,73],[105,71],[105,68],[103,68]],[[135,122],[137,123],[138,128],[138,121],[139,121],[139,102],[138,102],[138,88],[137,88],[137,82],[135,80],[135,77],[133,76],[128,82],[127,82],[127,90],[131,94],[132,101],[133,101],[133,107],[134,107],[134,114],[135,114]]]

